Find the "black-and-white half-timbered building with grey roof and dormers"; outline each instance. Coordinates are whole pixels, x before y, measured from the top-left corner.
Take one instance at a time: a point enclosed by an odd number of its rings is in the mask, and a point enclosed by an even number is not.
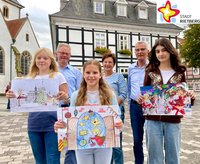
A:
[[[152,47],[156,39],[167,37],[177,48],[177,36],[183,30],[173,24],[157,24],[156,4],[144,0],[60,0],[60,11],[49,19],[53,49],[60,42],[69,43],[70,64],[81,69],[89,59],[101,60],[95,49],[106,47],[116,54],[116,71],[124,75],[135,62],[138,40]],[[127,49],[132,55],[123,53]]]

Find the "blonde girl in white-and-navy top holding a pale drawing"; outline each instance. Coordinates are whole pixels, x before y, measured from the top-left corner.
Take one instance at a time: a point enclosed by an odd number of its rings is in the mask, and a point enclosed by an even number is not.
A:
[[[54,55],[48,48],[39,48],[29,69],[28,79],[57,79],[59,81],[58,100],[68,98],[65,78],[58,72]],[[8,98],[15,97],[13,91],[6,93]],[[28,136],[36,164],[60,164],[57,134],[54,132],[55,112],[30,112],[28,117]]]

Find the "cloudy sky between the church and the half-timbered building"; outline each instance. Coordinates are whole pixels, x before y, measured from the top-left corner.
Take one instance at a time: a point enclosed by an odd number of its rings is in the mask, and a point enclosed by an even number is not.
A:
[[[28,13],[32,27],[41,47],[52,48],[48,14],[59,11],[60,0],[18,0],[25,8],[22,17]]]

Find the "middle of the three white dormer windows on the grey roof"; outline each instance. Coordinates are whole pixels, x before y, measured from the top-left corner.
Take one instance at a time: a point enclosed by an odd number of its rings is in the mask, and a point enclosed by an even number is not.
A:
[[[127,2],[126,0],[117,0],[115,2],[116,10],[117,10],[117,16],[127,16]]]

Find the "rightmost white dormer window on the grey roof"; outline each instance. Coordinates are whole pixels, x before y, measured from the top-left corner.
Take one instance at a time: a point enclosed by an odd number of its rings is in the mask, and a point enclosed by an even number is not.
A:
[[[148,5],[142,1],[137,5],[138,9],[138,18],[139,19],[148,19]]]

